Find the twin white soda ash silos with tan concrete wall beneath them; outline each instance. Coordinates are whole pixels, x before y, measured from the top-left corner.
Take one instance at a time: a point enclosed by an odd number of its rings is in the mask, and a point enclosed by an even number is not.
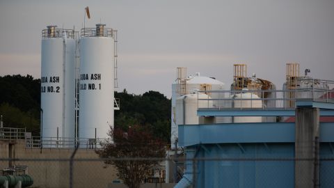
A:
[[[3,127],[1,116],[0,158],[8,161],[0,161],[0,187],[68,187],[70,180],[107,187],[117,179],[116,169],[106,169],[95,150],[112,142],[108,132],[119,109],[117,31],[105,24],[80,33],[51,25],[42,30],[41,43],[40,137]],[[74,147],[80,148],[76,157],[93,165],[73,165],[77,177],[70,179],[70,166],[61,161],[74,157]],[[16,161],[27,158],[35,161]]]

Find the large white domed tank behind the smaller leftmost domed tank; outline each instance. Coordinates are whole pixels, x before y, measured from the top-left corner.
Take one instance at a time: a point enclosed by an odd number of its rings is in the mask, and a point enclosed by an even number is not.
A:
[[[175,138],[178,135],[177,127],[177,113],[176,113],[176,100],[177,98],[187,95],[193,91],[223,91],[225,84],[213,77],[202,77],[200,72],[196,72],[195,75],[186,76],[186,68],[177,68],[177,79],[172,84],[172,111],[171,111],[171,148],[175,149]],[[208,93],[213,99],[218,99],[218,97],[225,97],[221,93]],[[197,94],[196,94],[197,96]],[[217,105],[218,100],[214,100],[212,105]],[[197,106],[196,106],[197,107]],[[197,109],[196,109],[197,110]],[[196,115],[197,116],[197,115]],[[216,118],[217,119],[217,118]],[[218,117],[219,122],[223,123],[227,118]]]

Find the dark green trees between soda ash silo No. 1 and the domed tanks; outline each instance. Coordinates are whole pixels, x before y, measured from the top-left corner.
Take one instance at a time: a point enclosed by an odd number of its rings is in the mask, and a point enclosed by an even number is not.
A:
[[[115,111],[115,127],[127,131],[129,126],[141,125],[150,130],[155,137],[166,142],[170,139],[170,100],[157,91],[143,95],[116,92],[120,98],[120,110]]]

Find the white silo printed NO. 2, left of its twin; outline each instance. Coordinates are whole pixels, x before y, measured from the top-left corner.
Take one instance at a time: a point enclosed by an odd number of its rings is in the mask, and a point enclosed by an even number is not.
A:
[[[74,30],[47,26],[41,54],[41,136],[44,147],[56,147],[61,137],[75,136]],[[51,137],[54,143],[49,142]]]

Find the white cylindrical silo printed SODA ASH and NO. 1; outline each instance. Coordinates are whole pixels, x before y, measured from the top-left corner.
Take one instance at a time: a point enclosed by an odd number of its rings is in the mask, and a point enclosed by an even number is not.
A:
[[[79,138],[106,139],[113,127],[114,35],[97,24],[81,29],[79,67]]]

